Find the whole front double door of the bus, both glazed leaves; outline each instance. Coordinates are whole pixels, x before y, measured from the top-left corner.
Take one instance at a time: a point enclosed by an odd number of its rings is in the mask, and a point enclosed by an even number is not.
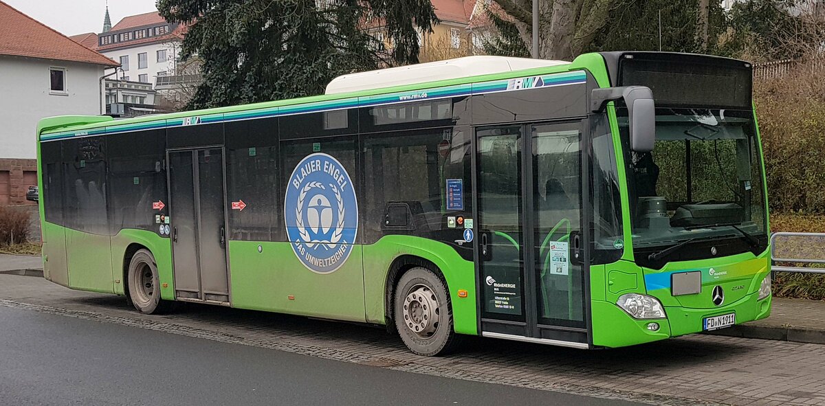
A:
[[[484,336],[588,347],[582,121],[476,129]]]

